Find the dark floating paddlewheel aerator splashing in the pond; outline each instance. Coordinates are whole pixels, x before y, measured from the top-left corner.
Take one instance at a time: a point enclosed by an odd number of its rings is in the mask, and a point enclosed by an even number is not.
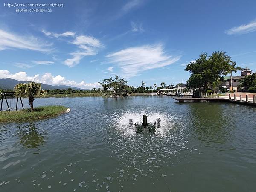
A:
[[[148,129],[148,131],[150,133],[155,133],[155,132],[157,132],[156,128],[160,128],[160,121],[161,121],[161,119],[157,118],[154,123],[148,123],[147,116],[143,115],[143,123],[134,123],[133,124],[133,120],[129,119],[129,124],[130,124],[130,127],[133,127],[133,125],[134,125],[134,127],[136,128],[136,133],[143,133],[143,129]]]

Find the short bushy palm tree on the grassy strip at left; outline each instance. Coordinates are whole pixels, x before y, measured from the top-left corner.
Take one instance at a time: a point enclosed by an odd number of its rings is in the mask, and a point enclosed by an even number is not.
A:
[[[18,96],[28,96],[29,97],[29,105],[30,110],[34,111],[33,102],[34,102],[34,96],[41,96],[45,95],[47,91],[41,90],[41,84],[35,83],[35,82],[29,82],[29,83],[19,83],[16,84],[14,87],[15,95]]]

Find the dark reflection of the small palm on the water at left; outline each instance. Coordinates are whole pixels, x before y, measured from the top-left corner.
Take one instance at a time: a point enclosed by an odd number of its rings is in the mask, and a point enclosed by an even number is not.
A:
[[[29,123],[26,127],[18,127],[20,143],[25,148],[37,148],[44,144],[44,136],[40,135],[34,123]]]

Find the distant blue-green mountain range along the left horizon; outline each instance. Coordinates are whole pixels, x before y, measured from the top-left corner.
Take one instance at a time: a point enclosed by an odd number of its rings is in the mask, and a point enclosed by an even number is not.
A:
[[[17,81],[12,78],[0,79],[0,89],[13,89],[16,84],[27,83],[27,82],[28,81]],[[40,84],[41,84],[42,89],[68,89],[68,88],[71,88],[71,89],[75,89],[75,90],[82,90],[80,88],[71,87],[71,86],[67,86],[67,85],[49,85],[49,84],[44,84],[44,83],[40,83]]]

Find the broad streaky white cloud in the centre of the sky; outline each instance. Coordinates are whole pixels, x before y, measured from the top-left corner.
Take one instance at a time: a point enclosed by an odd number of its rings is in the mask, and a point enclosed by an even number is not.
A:
[[[136,76],[145,70],[165,67],[180,59],[180,56],[166,55],[162,44],[130,47],[106,57],[109,58],[109,63],[121,68],[122,76],[126,78]]]

